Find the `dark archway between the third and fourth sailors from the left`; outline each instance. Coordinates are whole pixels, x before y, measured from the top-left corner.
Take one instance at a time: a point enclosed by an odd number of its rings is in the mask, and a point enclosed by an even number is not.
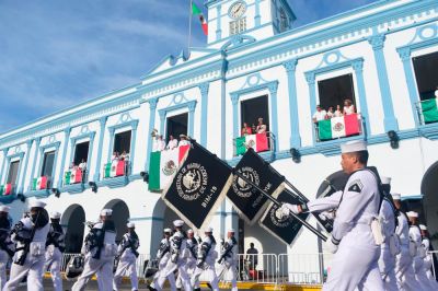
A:
[[[83,242],[85,211],[80,205],[71,205],[64,211],[61,225],[66,232],[66,253],[80,253]]]

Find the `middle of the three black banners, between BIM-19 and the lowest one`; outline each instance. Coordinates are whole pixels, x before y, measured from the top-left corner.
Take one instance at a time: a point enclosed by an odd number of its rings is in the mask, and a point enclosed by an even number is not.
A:
[[[269,164],[251,148],[242,156],[234,171],[270,196],[279,194],[285,187],[283,184],[285,178],[270,171]],[[249,224],[254,224],[267,207],[267,198],[235,174],[227,197],[240,217]]]

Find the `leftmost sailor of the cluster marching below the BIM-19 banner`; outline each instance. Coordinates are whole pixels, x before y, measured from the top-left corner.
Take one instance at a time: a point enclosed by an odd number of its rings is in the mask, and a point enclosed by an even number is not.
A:
[[[169,284],[171,286],[171,291],[176,291],[175,275],[173,272],[170,272],[169,275],[165,273],[168,261],[171,258],[171,253],[170,253],[171,236],[172,236],[172,230],[164,229],[164,237],[163,237],[163,240],[161,240],[160,247],[157,252],[157,259],[159,261],[158,272],[155,272],[155,275],[153,277],[153,282],[150,286],[148,286],[148,289],[151,291],[154,291],[154,290],[161,291],[162,287],[160,287],[159,280],[165,281],[165,279],[168,279]]]

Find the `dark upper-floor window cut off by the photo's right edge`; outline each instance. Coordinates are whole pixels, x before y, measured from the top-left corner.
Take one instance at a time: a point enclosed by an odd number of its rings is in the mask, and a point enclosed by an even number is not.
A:
[[[435,98],[438,88],[438,51],[413,58],[419,100]]]

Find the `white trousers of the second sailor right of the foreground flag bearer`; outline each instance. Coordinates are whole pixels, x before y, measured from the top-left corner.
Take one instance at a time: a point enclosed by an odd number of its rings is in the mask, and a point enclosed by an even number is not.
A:
[[[402,252],[395,257],[395,278],[397,280],[399,290],[422,290],[422,287],[415,278],[410,247],[407,245],[402,245]]]

